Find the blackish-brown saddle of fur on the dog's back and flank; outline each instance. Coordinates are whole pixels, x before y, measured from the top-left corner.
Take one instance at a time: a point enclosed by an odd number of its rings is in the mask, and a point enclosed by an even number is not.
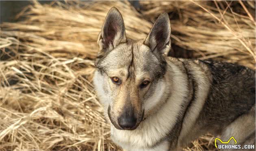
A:
[[[227,62],[201,62],[210,69],[212,84],[199,119],[219,126],[249,112],[255,104],[255,71]]]

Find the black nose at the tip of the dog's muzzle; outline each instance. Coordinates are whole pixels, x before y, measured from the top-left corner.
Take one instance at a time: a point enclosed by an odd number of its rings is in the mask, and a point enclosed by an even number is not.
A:
[[[119,126],[125,130],[135,127],[137,123],[137,118],[135,116],[121,116],[117,120]]]

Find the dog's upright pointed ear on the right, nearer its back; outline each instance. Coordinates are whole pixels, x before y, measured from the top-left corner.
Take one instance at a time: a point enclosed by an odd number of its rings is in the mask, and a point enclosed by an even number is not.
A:
[[[166,49],[170,49],[170,36],[171,25],[169,16],[167,13],[162,13],[154,23],[147,38],[145,38],[144,45],[150,47],[156,55],[162,55]]]

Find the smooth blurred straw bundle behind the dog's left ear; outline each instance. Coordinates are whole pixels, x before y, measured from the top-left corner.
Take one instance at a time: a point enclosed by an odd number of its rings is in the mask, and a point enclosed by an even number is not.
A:
[[[143,19],[128,2],[53,2],[44,6],[35,2],[19,14],[26,17],[25,21],[3,23],[1,28],[11,30],[6,33],[9,36],[24,39],[24,44],[53,56],[76,53],[93,59],[97,55],[98,34],[112,6],[120,8],[129,38],[144,38],[150,31],[152,23]],[[143,22],[143,26],[139,26],[139,22]]]

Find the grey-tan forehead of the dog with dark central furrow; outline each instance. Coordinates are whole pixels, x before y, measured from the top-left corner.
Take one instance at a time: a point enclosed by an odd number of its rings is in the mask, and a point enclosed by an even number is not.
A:
[[[139,79],[154,77],[153,71],[159,68],[157,58],[141,41],[117,46],[105,61],[109,72],[125,77],[130,74]]]

